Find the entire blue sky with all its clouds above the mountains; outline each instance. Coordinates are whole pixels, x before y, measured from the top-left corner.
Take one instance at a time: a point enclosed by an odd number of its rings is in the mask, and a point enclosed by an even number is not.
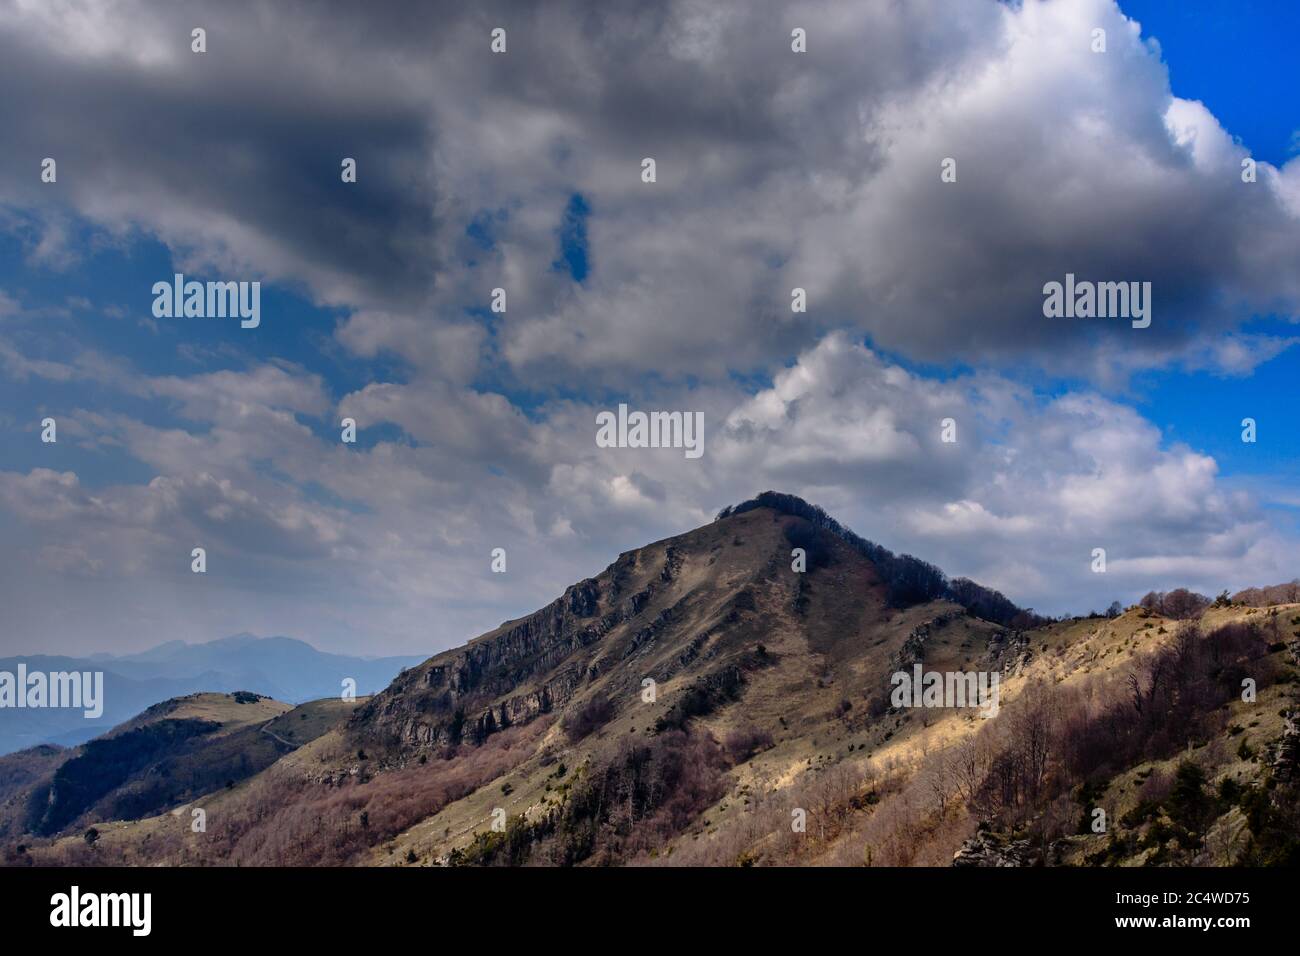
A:
[[[1040,611],[1295,576],[1292,5],[493,4],[507,59],[235,8],[0,21],[0,649],[450,646],[766,488]],[[1046,320],[1067,271],[1150,329]],[[153,319],[174,272],[261,325]],[[598,449],[618,402],[705,457]]]

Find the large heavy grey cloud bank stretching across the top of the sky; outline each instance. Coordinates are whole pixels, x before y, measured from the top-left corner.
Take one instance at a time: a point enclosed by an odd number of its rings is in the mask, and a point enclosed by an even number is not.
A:
[[[942,362],[1170,362],[1296,315],[1300,165],[1243,183],[1245,147],[1113,0],[378,7],[10,3],[0,121],[23,148],[0,200],[300,282],[356,310],[358,354],[459,378],[497,286],[514,308],[490,356],[534,382],[723,378],[833,328]],[[13,165],[44,155],[57,193]],[[575,193],[581,282],[552,268]],[[1066,272],[1150,281],[1150,329],[1044,319]]]

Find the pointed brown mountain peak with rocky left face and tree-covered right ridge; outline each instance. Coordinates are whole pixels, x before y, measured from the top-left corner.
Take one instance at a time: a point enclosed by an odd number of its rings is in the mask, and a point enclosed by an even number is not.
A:
[[[634,696],[647,679],[732,697],[775,659],[776,631],[798,653],[852,657],[883,622],[926,605],[949,617],[988,607],[994,627],[1020,614],[997,592],[896,555],[802,498],[764,492],[625,551],[538,611],[411,669],[354,726],[402,748],[448,749],[575,698]]]

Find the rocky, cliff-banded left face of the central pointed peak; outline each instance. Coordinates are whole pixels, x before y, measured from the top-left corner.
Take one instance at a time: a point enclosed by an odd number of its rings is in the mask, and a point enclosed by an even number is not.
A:
[[[772,578],[783,522],[793,520],[753,511],[628,551],[540,611],[406,671],[351,728],[403,748],[477,744],[590,685],[629,692],[646,676],[734,669],[728,652],[741,653],[754,631],[755,592],[796,583]],[[754,549],[768,557],[753,562]]]

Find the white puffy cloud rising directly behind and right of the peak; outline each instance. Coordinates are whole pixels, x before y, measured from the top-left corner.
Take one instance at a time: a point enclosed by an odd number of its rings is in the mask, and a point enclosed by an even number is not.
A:
[[[670,505],[727,503],[755,484],[790,490],[872,540],[1046,613],[1175,581],[1217,593],[1290,575],[1294,544],[1257,498],[1225,481],[1212,457],[1167,444],[1134,408],[1091,390],[1050,397],[989,373],[936,381],[836,333],[771,388],[732,401],[715,414],[724,424],[707,468],[664,453],[590,455],[558,470],[556,493],[608,496],[637,512],[646,496],[606,489],[667,488]],[[1095,548],[1106,549],[1104,575],[1092,572]]]

